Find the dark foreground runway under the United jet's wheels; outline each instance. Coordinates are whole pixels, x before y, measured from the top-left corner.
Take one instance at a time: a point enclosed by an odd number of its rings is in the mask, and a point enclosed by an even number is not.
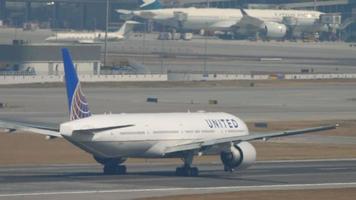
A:
[[[99,165],[0,167],[0,199],[133,199],[211,192],[356,187],[356,160],[259,162],[225,173],[199,165],[199,177],[175,177],[172,164],[130,164],[128,174],[101,175]]]

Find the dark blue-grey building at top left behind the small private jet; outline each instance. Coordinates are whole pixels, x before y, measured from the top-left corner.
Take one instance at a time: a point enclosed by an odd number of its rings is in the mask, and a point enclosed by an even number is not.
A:
[[[133,9],[135,0],[110,0],[110,21],[118,21],[117,8]],[[103,29],[105,0],[0,0],[3,24],[21,27],[35,23],[44,28]]]

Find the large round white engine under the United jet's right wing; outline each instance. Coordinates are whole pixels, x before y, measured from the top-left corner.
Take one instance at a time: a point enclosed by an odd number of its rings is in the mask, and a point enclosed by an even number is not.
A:
[[[240,142],[220,154],[225,171],[246,169],[256,161],[256,149],[248,142]]]

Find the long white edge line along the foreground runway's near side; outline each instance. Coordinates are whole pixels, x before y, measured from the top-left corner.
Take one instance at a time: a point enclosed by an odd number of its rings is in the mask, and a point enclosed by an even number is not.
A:
[[[62,192],[33,192],[0,194],[0,197],[18,196],[54,196],[72,194],[104,194],[104,193],[135,193],[135,192],[163,192],[163,191],[257,191],[257,190],[286,190],[286,189],[327,189],[356,187],[356,182],[350,183],[316,183],[316,184],[286,184],[260,186],[226,186],[226,187],[196,187],[196,188],[152,188],[152,189],[119,189],[119,190],[78,190]]]

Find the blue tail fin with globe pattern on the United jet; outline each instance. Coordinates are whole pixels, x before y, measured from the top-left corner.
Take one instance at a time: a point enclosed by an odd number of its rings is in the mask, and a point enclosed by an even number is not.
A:
[[[85,98],[80,81],[74,68],[69,50],[62,49],[65,85],[67,89],[68,108],[70,120],[77,120],[91,116],[87,99]]]

